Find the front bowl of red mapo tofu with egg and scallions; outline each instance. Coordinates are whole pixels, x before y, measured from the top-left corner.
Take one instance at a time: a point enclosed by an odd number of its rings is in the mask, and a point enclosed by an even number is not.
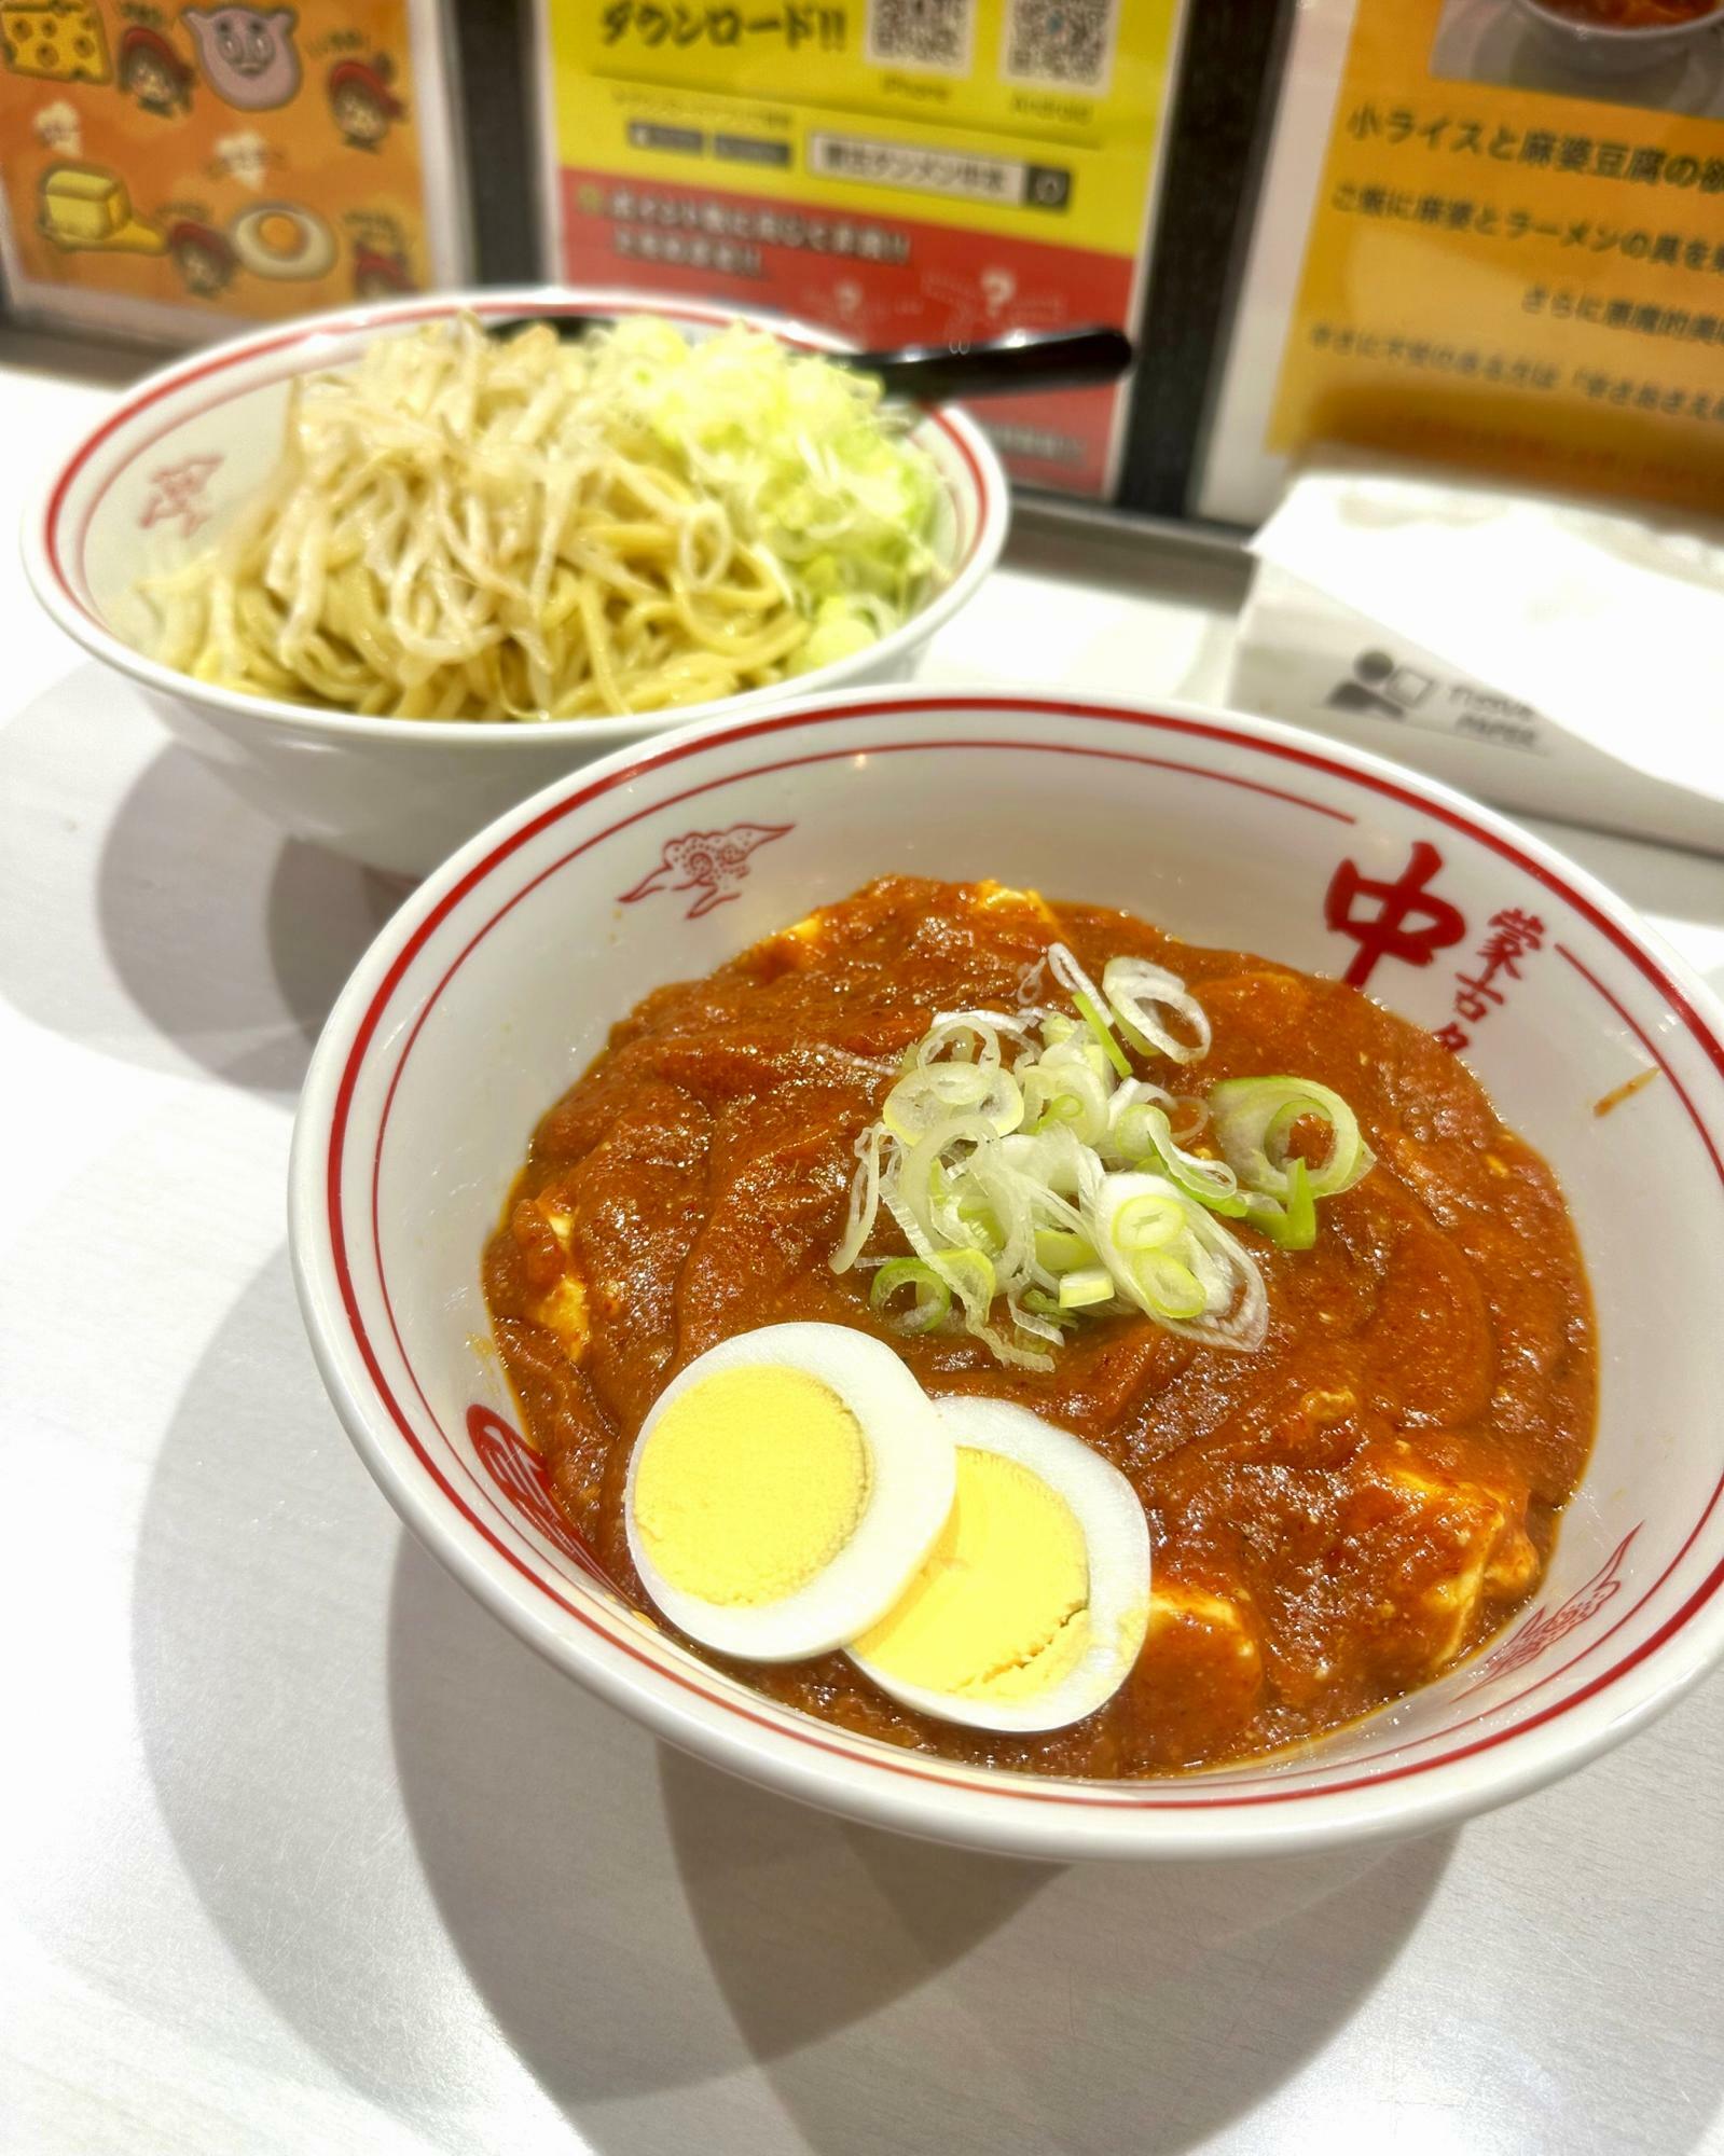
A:
[[[1530,837],[1177,709],[849,696],[502,819],[319,1046],[302,1302],[552,1660],[1041,1856],[1412,1833],[1724,1645],[1724,1048]]]

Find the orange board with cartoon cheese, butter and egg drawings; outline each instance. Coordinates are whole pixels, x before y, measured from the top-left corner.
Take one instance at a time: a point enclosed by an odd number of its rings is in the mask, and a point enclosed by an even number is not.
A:
[[[190,338],[465,272],[435,4],[0,0],[19,315]]]

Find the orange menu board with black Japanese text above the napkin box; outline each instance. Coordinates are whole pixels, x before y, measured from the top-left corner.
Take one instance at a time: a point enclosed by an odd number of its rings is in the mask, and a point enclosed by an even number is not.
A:
[[[1720,0],[1306,0],[1194,509],[1319,440],[1718,509]]]

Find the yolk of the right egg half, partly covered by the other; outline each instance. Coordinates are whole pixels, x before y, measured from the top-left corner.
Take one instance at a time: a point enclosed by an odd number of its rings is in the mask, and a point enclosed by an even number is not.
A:
[[[856,1641],[901,1684],[965,1699],[1032,1699],[1090,1643],[1084,1531],[1017,1460],[961,1445],[957,1498],[903,1598]]]

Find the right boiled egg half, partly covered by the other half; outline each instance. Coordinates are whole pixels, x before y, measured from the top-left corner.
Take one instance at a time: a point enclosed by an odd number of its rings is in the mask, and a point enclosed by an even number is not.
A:
[[[901,1600],[849,1647],[922,1714],[1062,1729],[1095,1714],[1149,1626],[1149,1522],[1131,1483],[1069,1429],[1000,1399],[942,1399],[957,1496]]]

